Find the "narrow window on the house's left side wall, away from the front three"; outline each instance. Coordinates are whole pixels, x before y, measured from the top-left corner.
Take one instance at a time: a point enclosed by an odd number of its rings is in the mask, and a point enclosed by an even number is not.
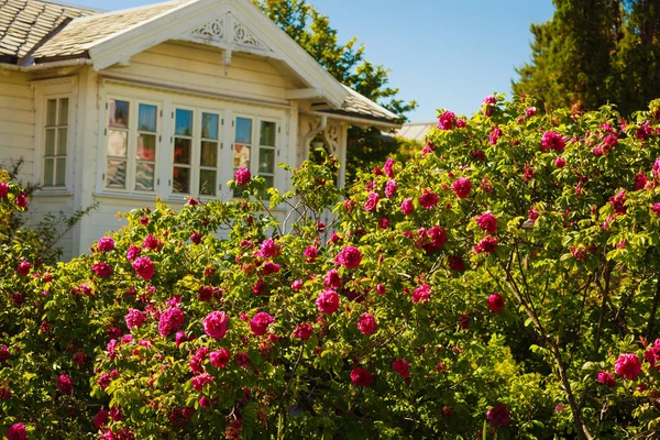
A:
[[[46,101],[44,187],[64,187],[66,185],[68,105],[68,98]]]

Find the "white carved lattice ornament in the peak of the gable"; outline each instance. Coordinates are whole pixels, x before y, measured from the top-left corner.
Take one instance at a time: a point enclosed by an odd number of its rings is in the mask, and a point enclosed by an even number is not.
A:
[[[229,51],[276,57],[275,53],[231,12],[187,32],[182,35],[180,40],[210,44]]]

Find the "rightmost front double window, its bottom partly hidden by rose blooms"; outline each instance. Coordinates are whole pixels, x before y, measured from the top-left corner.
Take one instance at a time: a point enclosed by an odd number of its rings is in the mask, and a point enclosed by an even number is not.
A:
[[[239,117],[235,119],[234,125],[234,172],[240,167],[251,169],[253,174],[265,178],[265,189],[275,186],[277,124],[272,121]],[[252,164],[251,153],[255,148],[257,162]],[[240,193],[240,190],[234,191],[234,196],[239,196]],[[267,196],[265,190],[263,196]]]

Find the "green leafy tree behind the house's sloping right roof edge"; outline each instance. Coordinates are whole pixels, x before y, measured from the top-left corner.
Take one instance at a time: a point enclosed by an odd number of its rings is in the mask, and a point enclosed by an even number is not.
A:
[[[415,101],[397,98],[399,89],[388,86],[389,69],[366,61],[364,44],[358,45],[358,37],[340,43],[329,18],[306,0],[254,0],[254,3],[342,84],[400,116],[402,121],[417,107]],[[385,139],[380,130],[352,127],[348,148],[346,173],[351,178],[358,169],[382,164],[397,151],[398,143]]]

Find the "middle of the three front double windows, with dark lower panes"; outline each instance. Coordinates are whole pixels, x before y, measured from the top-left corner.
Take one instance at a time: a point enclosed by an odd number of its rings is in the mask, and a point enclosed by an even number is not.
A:
[[[217,196],[220,147],[219,114],[176,109],[172,191]]]

